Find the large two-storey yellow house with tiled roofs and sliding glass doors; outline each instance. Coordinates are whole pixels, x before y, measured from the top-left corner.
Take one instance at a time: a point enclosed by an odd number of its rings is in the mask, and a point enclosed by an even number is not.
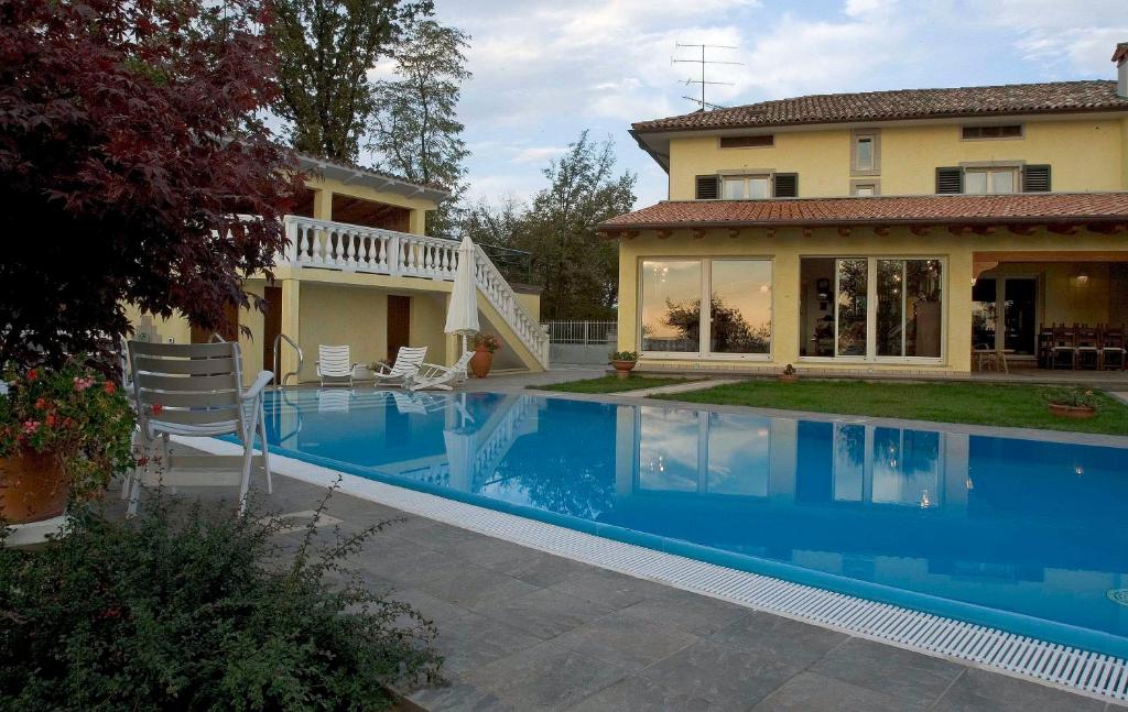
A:
[[[656,370],[1121,368],[1128,43],[1113,61],[1118,81],[634,124],[669,199],[601,225],[620,246],[619,349]]]

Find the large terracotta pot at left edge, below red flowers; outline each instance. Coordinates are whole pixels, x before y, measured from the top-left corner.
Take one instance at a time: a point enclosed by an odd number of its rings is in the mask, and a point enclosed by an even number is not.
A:
[[[0,457],[0,518],[25,524],[58,517],[67,509],[70,483],[50,454],[25,450]]]

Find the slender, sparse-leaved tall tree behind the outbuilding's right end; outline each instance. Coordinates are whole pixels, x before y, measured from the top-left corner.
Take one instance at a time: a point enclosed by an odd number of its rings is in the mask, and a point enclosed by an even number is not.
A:
[[[393,52],[395,77],[376,86],[369,145],[378,167],[412,183],[440,185],[453,196],[428,219],[428,232],[450,237],[455,205],[465,190],[462,161],[469,155],[458,121],[458,99],[466,69],[469,35],[432,19],[414,23]]]

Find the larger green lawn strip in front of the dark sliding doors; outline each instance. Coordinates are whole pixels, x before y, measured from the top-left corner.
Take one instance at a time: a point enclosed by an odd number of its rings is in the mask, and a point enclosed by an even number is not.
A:
[[[746,381],[652,398],[937,422],[1128,435],[1128,407],[1104,393],[1098,393],[1100,411],[1095,418],[1068,420],[1047,411],[1042,386],[1037,385],[986,383]]]

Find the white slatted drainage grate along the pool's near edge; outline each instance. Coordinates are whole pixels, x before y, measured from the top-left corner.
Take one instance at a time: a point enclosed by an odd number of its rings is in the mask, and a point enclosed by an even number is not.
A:
[[[241,452],[220,440],[183,442],[215,454]],[[291,457],[272,454],[271,464],[317,484],[341,477],[347,495],[547,553],[1072,692],[1128,700],[1128,660],[1121,658],[602,539]]]

